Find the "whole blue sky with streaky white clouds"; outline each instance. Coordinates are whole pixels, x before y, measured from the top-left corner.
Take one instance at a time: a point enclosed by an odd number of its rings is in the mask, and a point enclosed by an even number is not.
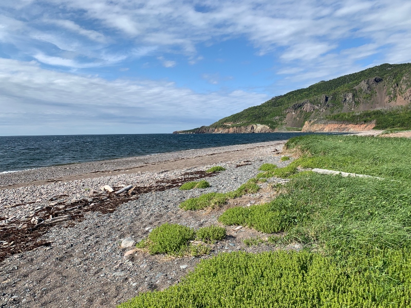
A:
[[[170,133],[382,63],[411,1],[2,0],[0,136]]]

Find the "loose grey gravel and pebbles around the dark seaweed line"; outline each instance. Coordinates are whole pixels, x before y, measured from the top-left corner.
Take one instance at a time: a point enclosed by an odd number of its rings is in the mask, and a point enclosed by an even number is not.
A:
[[[110,213],[89,211],[84,213],[80,221],[62,222],[46,229],[39,240],[49,242],[48,246],[14,254],[0,263],[0,307],[115,306],[140,292],[163,290],[178,283],[201,259],[215,254],[276,249],[270,245],[246,246],[242,239],[256,236],[264,238],[267,235],[245,227],[226,227],[226,239],[213,245],[210,255],[199,258],[151,256],[141,251],[130,252],[133,246],[129,245],[145,238],[154,227],[164,222],[180,223],[195,229],[218,224],[217,218],[224,208],[183,211],[178,205],[188,198],[198,197],[207,192],[234,190],[254,177],[259,172],[258,167],[263,163],[275,163],[280,167],[290,163],[280,162],[281,156],[273,155],[275,146],[266,144],[265,147],[257,149],[253,157],[245,158],[247,161],[219,164],[227,170],[206,178],[211,184],[209,188],[171,188],[140,194],[138,198],[127,200]],[[213,153],[223,149],[202,151]],[[281,150],[282,146],[276,146],[276,149]],[[177,152],[173,155],[180,157],[182,153]],[[161,160],[160,156],[156,159]],[[130,164],[132,161],[130,159]],[[81,165],[92,170],[92,163]],[[241,166],[236,167],[238,165]],[[101,192],[100,186],[120,187],[138,183],[140,186],[148,187],[156,185],[159,180],[179,178],[188,171],[206,170],[209,167],[210,165],[161,173],[144,172],[4,189],[0,191],[0,226],[35,215],[36,209],[41,210],[51,202],[89,200],[92,192]],[[17,176],[14,180],[19,178],[20,176]],[[272,197],[269,182],[281,181],[283,180],[272,178],[261,184],[262,189],[257,194],[235,199],[236,203],[230,201],[230,204],[246,206],[269,200]],[[53,198],[57,199],[52,200]],[[15,206],[16,204],[22,205]],[[59,204],[61,203],[55,206]],[[230,204],[228,206],[231,206]],[[296,245],[288,248],[301,249]],[[125,254],[127,255],[124,256]]]

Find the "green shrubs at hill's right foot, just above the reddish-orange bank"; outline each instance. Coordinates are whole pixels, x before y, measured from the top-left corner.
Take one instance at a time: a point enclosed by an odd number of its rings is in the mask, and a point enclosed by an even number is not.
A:
[[[411,129],[411,107],[402,107],[390,110],[371,110],[362,112],[347,112],[328,115],[328,120],[342,123],[364,124],[376,121],[374,129],[397,128]]]

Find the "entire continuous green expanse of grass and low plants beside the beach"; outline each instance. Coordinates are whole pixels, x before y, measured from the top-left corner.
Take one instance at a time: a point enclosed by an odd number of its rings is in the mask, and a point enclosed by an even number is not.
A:
[[[277,197],[228,209],[219,220],[286,232],[268,243],[298,242],[303,251],[219,254],[201,261],[179,284],[120,307],[411,306],[411,140],[304,136],[287,148],[303,156],[285,167],[295,172],[276,186]],[[297,166],[385,179],[297,173]],[[268,177],[281,169],[262,173]]]

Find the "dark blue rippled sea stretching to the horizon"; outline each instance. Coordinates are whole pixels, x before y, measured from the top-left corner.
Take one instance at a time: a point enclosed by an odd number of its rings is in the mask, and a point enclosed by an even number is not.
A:
[[[307,133],[0,137],[0,172],[214,146],[285,140],[303,134]]]

